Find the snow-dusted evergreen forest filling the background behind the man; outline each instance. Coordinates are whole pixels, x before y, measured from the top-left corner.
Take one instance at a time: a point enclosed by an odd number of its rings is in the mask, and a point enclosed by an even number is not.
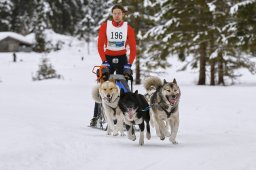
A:
[[[36,52],[47,51],[46,29],[89,43],[114,4],[136,32],[136,84],[171,67],[170,57],[197,70],[198,85],[227,85],[240,68],[256,73],[255,0],[0,0],[0,32],[34,33]]]

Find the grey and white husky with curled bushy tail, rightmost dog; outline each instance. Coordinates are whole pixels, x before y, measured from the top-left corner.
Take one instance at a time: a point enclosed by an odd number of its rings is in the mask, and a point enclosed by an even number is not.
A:
[[[143,84],[148,94],[154,91],[149,100],[157,135],[161,140],[170,137],[170,142],[177,144],[181,91],[176,79],[162,82],[158,77],[149,77]]]

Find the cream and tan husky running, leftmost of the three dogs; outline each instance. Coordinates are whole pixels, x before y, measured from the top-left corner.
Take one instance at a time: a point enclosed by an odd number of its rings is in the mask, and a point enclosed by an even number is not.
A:
[[[124,116],[118,106],[120,88],[115,84],[115,80],[101,81],[100,85],[94,87],[92,97],[97,103],[102,103],[108,124],[107,135],[111,135],[113,132],[113,136],[117,136],[120,132],[120,135],[124,136]],[[114,121],[116,121],[116,126]]]

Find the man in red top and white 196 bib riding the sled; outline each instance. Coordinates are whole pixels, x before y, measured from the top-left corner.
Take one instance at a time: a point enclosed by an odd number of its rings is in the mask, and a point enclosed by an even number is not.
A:
[[[98,52],[102,66],[106,66],[109,74],[132,75],[132,63],[136,57],[136,38],[133,28],[125,22],[126,10],[121,5],[112,7],[112,21],[103,23],[99,30]],[[127,58],[126,46],[130,46],[130,57]],[[95,103],[94,115],[90,126],[96,126],[98,106]]]

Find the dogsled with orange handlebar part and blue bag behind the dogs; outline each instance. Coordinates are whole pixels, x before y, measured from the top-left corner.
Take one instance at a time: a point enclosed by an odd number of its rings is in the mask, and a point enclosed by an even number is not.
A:
[[[123,90],[123,92],[133,92],[133,77],[132,74],[128,75],[122,75],[122,74],[109,74],[107,71],[107,68],[105,66],[94,66],[92,69],[92,73],[94,73],[97,77],[97,82],[100,81],[107,81],[109,79],[113,79],[116,83],[116,85]],[[130,86],[129,86],[130,82]],[[107,130],[107,123],[106,118],[104,114],[104,109],[102,106],[102,103],[95,103],[95,109],[97,112],[97,122],[96,125],[90,124],[89,127],[101,129],[101,130]],[[114,124],[116,124],[116,121],[114,121]]]

